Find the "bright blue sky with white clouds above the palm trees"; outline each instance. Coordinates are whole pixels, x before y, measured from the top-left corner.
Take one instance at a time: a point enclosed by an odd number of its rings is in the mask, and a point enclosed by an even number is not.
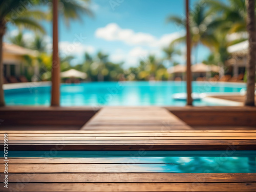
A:
[[[91,1],[93,18],[84,15],[81,22],[71,22],[69,28],[60,18],[60,55],[74,55],[76,59],[72,61],[73,65],[82,61],[85,51],[91,54],[103,51],[114,62],[124,61],[126,68],[136,66],[139,59],[144,59],[148,54],[163,57],[162,48],[185,32],[174,24],[165,23],[168,15],[184,16],[185,1],[182,0]],[[191,1],[191,8],[196,1]],[[51,23],[44,22],[43,25],[51,47]],[[13,27],[9,26],[8,30],[15,33]],[[30,32],[26,33],[31,37]],[[184,46],[179,48],[185,51]],[[198,62],[208,56],[209,50],[200,46],[199,53]],[[176,60],[185,63],[184,56],[178,56]]]

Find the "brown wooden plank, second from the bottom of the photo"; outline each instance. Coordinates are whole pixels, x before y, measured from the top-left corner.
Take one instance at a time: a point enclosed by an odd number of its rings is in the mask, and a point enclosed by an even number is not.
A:
[[[0,179],[4,179],[4,174]],[[29,183],[186,183],[186,182],[255,182],[256,173],[87,173],[87,174],[9,174],[8,181]]]

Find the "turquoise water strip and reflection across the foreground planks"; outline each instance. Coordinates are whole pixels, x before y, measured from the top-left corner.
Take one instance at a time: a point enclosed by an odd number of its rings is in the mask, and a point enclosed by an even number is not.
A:
[[[105,158],[125,172],[256,173],[256,151],[9,151],[10,157]],[[135,168],[134,168],[135,167]]]

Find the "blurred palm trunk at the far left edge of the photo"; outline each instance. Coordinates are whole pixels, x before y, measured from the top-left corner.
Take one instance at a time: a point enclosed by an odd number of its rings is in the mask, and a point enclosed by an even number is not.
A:
[[[5,23],[0,21],[0,106],[5,106],[4,98],[4,63],[3,63],[3,37],[5,34]]]

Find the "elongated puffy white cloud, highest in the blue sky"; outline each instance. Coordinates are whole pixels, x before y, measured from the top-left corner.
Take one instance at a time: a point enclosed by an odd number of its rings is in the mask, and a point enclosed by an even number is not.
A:
[[[111,23],[95,31],[95,36],[109,41],[119,40],[127,45],[165,47],[174,39],[180,37],[182,33],[164,34],[160,38],[149,33],[135,33],[132,29],[122,29],[117,24]]]

